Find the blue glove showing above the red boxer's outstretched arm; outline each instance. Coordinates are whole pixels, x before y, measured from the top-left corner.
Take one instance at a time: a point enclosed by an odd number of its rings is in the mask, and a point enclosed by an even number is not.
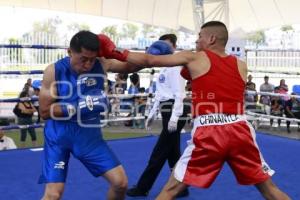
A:
[[[146,51],[147,54],[151,55],[168,55],[173,54],[173,52],[172,46],[163,40],[154,42]]]

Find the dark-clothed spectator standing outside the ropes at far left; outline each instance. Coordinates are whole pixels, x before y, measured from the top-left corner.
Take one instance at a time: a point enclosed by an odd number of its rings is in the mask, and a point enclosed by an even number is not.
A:
[[[29,97],[28,93],[26,91],[22,91],[19,95],[19,98],[24,98],[24,97]],[[19,114],[17,115],[18,117],[18,124],[19,125],[32,125],[32,116],[33,113],[36,112],[36,109],[32,105],[30,101],[23,101],[17,103],[17,109],[19,109]],[[27,137],[27,131],[30,134],[31,141],[32,141],[32,146],[36,146],[36,133],[35,129],[33,127],[30,128],[22,128],[20,129],[21,133],[21,147],[25,147],[25,141]]]

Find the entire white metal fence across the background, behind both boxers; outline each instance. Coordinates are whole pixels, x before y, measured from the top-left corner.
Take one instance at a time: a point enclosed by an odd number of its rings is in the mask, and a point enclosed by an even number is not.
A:
[[[127,43],[120,42],[119,45],[123,48],[143,50],[153,41],[138,39]],[[67,44],[68,41],[45,33],[23,36],[18,41],[2,41],[0,70],[43,69],[49,63],[67,55]],[[246,62],[252,69],[299,70],[300,50],[246,50]]]

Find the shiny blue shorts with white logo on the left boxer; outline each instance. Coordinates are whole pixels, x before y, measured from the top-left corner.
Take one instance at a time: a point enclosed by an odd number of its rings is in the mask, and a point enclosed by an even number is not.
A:
[[[39,183],[65,182],[70,153],[97,177],[120,165],[102,138],[101,129],[48,120],[44,129],[44,159]]]

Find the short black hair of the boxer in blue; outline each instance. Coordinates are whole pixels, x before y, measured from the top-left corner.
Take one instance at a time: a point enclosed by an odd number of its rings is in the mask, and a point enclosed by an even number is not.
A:
[[[70,41],[70,49],[80,53],[82,48],[89,51],[99,50],[98,36],[90,31],[79,31]]]

